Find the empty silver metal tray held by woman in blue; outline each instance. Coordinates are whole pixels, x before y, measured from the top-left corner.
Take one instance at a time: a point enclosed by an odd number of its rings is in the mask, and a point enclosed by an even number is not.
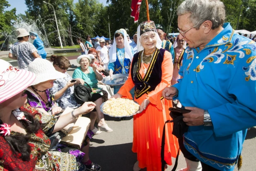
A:
[[[110,86],[123,85],[128,79],[128,74],[114,74],[102,79],[102,83]]]

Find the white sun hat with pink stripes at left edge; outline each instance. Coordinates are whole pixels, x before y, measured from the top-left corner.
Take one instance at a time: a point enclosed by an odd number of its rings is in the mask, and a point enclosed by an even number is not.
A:
[[[19,70],[0,59],[0,103],[29,87],[36,75],[28,70]]]

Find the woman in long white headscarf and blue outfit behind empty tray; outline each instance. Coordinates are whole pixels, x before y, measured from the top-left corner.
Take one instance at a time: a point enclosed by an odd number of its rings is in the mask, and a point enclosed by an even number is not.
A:
[[[130,46],[123,29],[115,32],[113,46],[109,49],[109,75],[128,74],[133,59],[133,48]],[[116,94],[121,86],[114,87]]]

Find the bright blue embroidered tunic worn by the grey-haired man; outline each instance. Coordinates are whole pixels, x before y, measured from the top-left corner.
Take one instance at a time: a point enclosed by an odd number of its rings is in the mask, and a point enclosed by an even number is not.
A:
[[[229,23],[202,51],[186,48],[174,87],[183,106],[208,110],[213,126],[190,126],[186,149],[200,161],[232,171],[247,128],[256,125],[256,43]]]

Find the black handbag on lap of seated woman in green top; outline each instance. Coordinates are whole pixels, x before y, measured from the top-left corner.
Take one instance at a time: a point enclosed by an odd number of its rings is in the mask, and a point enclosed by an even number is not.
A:
[[[85,84],[87,84],[85,82]],[[87,84],[88,87],[82,84],[78,84],[75,86],[74,89],[74,96],[75,100],[77,101],[78,104],[83,104],[87,101],[91,101],[92,99],[92,88]]]

